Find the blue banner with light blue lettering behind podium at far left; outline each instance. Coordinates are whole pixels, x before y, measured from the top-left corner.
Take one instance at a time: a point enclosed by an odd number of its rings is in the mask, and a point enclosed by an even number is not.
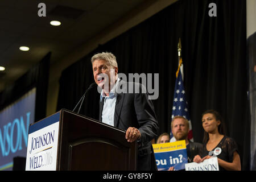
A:
[[[13,158],[26,157],[30,123],[35,119],[36,89],[0,111],[0,170],[12,170]]]

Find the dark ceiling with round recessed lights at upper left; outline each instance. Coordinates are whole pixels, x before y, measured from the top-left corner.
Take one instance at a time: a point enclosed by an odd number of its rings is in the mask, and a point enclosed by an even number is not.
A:
[[[122,18],[144,0],[1,0],[0,92],[49,52],[51,61],[86,42]],[[147,1],[147,0],[146,0]],[[46,17],[39,17],[38,4],[46,4]],[[61,26],[51,26],[59,20]],[[20,51],[20,46],[30,51]]]

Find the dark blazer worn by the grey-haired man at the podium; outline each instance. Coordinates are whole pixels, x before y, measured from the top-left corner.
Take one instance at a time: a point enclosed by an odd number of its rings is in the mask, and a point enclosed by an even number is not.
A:
[[[133,93],[127,93],[133,88]],[[131,90],[130,90],[131,91]],[[138,146],[138,170],[157,170],[151,140],[158,136],[159,126],[154,105],[148,100],[146,89],[135,82],[119,81],[115,102],[114,127],[127,130],[135,127],[141,132]],[[104,100],[100,101],[99,119],[102,121]]]

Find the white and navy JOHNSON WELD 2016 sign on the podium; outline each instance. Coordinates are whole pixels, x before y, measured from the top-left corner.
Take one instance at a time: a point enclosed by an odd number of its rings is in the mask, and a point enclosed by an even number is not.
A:
[[[34,123],[28,130],[26,171],[55,171],[60,112]]]

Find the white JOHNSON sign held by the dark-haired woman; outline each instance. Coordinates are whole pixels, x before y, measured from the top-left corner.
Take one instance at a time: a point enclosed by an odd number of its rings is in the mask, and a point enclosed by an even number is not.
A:
[[[201,163],[185,164],[186,171],[218,171],[218,159],[213,157]]]

